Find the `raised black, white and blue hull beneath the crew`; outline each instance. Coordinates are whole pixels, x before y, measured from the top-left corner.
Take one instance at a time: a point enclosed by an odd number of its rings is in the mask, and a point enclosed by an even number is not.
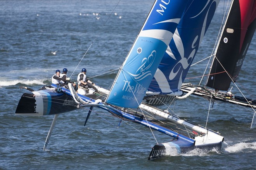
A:
[[[52,88],[26,92],[21,96],[16,108],[16,115],[43,116],[76,110],[78,104],[73,99],[69,89],[52,84]],[[99,94],[87,94],[89,98],[98,99]]]

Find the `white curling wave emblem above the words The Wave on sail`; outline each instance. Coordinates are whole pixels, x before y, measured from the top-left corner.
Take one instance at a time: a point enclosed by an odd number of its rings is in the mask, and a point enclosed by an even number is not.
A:
[[[153,50],[147,58],[145,57],[142,59],[141,66],[136,70],[135,74],[132,74],[132,73],[129,73],[129,74],[133,76],[136,81],[143,80],[147,76],[152,76],[150,67],[154,63],[155,58],[156,58],[156,50]]]

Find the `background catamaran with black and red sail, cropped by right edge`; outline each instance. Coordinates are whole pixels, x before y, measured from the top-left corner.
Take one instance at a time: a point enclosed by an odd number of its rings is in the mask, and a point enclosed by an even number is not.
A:
[[[183,84],[181,90],[206,98],[256,108],[256,100],[239,97],[229,90],[238,79],[247,50],[256,29],[256,0],[234,0],[230,5],[225,25],[205,86]],[[208,87],[208,88],[207,88]],[[213,90],[214,89],[214,90]],[[224,90],[221,92],[220,90]],[[228,92],[229,90],[229,92]]]

